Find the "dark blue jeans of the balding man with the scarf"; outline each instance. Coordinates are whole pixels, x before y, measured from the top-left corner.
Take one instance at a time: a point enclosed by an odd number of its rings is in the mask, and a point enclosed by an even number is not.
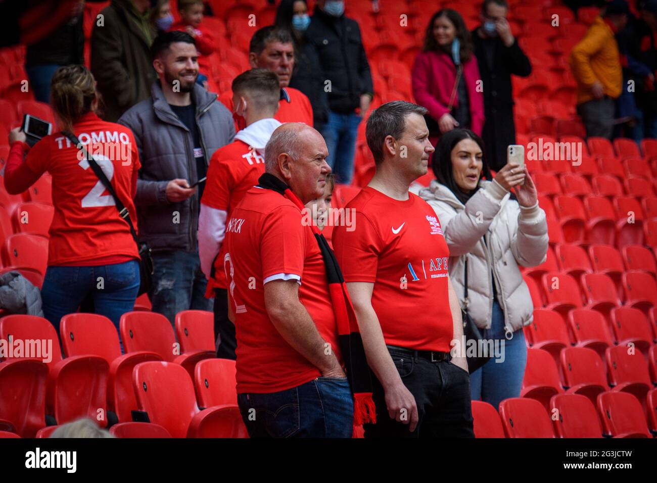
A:
[[[267,394],[238,394],[237,404],[251,438],[351,438],[353,431],[346,377],[318,377]]]

